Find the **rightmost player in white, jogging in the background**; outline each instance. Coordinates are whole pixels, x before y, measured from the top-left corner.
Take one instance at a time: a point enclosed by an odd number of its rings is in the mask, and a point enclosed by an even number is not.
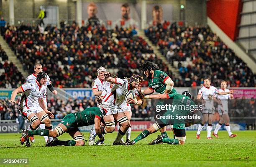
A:
[[[219,92],[229,92],[230,90],[227,89],[227,81],[220,82],[220,89]],[[220,121],[216,125],[214,132],[212,133],[213,136],[219,137],[218,131],[220,127],[225,123],[226,130],[228,131],[229,137],[236,137],[236,134],[233,134],[230,130],[229,126],[229,116],[228,116],[228,100],[233,99],[234,96],[232,94],[227,95],[217,95],[218,100],[220,100],[220,104],[218,105],[218,113],[220,115]]]

